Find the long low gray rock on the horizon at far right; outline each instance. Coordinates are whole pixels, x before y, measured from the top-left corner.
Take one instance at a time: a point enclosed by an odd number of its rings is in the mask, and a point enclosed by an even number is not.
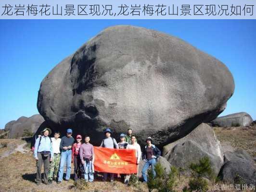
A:
[[[250,126],[252,122],[252,117],[245,112],[234,113],[223,117],[218,117],[215,120],[211,121],[213,126],[218,127]]]

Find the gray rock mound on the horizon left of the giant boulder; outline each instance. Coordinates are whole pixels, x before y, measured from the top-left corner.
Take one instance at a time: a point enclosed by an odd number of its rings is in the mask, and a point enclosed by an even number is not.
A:
[[[8,138],[18,138],[23,136],[24,130],[35,133],[42,122],[44,122],[44,118],[39,114],[29,118],[20,117],[18,120],[8,122],[5,125],[5,131],[9,131]]]

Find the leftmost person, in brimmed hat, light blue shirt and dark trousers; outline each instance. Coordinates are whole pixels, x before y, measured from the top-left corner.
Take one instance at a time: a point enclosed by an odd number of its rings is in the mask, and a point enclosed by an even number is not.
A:
[[[37,179],[36,182],[39,185],[41,180],[41,168],[44,164],[44,183],[48,182],[48,173],[50,168],[50,161],[52,161],[53,151],[51,138],[48,136],[51,134],[51,129],[45,128],[41,132],[42,136],[38,137],[35,143],[34,157],[37,160]]]

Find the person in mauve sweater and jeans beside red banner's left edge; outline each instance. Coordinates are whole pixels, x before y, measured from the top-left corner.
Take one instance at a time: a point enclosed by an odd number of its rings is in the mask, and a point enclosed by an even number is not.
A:
[[[85,181],[92,182],[94,180],[94,150],[93,145],[89,143],[90,137],[85,136],[85,143],[80,146],[79,155],[81,158],[81,163],[84,166],[84,179]]]

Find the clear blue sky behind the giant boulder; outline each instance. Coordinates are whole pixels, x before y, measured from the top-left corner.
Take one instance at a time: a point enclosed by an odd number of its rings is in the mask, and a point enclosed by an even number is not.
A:
[[[38,114],[42,79],[102,29],[131,24],[177,36],[221,60],[235,80],[220,115],[256,120],[256,21],[252,20],[0,20],[0,128]]]

